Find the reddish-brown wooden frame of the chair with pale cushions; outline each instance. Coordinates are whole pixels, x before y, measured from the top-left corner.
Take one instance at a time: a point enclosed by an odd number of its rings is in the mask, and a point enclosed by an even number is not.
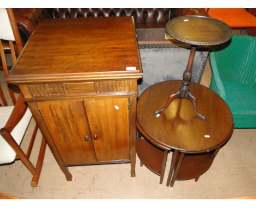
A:
[[[22,46],[22,42],[21,42],[21,39],[20,39],[18,27],[16,25],[14,12],[13,12],[12,9],[7,9],[7,13],[8,13],[8,17],[9,17],[9,20],[10,20],[11,28],[13,29],[13,33],[14,33],[16,51],[18,52],[18,55],[19,55],[22,51],[23,46]],[[16,62],[15,47],[14,47],[13,41],[8,41],[8,42],[9,42],[9,45],[10,45],[11,57],[13,59],[13,62],[15,63]],[[0,40],[0,54],[1,54],[2,64],[3,64],[4,76],[5,76],[5,78],[7,78],[7,76],[8,76],[8,67],[7,67],[7,63],[6,63],[6,59],[5,59],[5,55],[4,55],[4,48],[3,48],[3,44],[2,44],[1,40]],[[19,158],[25,164],[25,166],[31,172],[31,174],[33,175],[33,178],[32,178],[32,181],[31,181],[31,186],[35,187],[38,184],[38,180],[39,180],[40,173],[41,173],[41,170],[42,170],[42,165],[43,165],[43,160],[44,160],[44,155],[45,155],[45,149],[46,149],[46,141],[43,137],[41,145],[40,145],[40,151],[39,151],[39,155],[38,155],[38,159],[37,159],[37,164],[36,164],[36,167],[35,167],[35,166],[33,166],[32,162],[30,161],[29,158],[30,158],[31,151],[32,151],[32,148],[33,148],[34,140],[36,138],[38,125],[36,124],[36,126],[34,127],[34,131],[33,131],[33,134],[32,134],[31,140],[30,140],[30,144],[28,145],[28,149],[27,149],[27,152],[25,154],[25,152],[20,148],[20,145],[18,143],[16,143],[13,136],[11,136],[11,131],[13,131],[15,126],[22,119],[22,117],[26,113],[28,107],[27,107],[26,103],[24,102],[24,97],[22,96],[22,94],[20,93],[18,99],[16,100],[15,96],[14,96],[14,93],[13,93],[13,90],[11,89],[8,81],[6,81],[6,84],[8,85],[8,91],[9,91],[11,100],[14,103],[14,109],[13,109],[7,123],[0,130],[0,133],[1,133],[2,137],[5,139],[5,141],[16,152],[16,158],[15,159]],[[3,101],[3,105],[8,106],[8,103],[7,103],[7,100],[4,97],[4,93],[3,93],[3,89],[1,87],[1,85],[0,85],[0,97]]]

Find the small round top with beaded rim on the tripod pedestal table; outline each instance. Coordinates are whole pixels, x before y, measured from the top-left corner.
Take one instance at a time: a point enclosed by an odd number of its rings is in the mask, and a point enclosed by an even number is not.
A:
[[[226,23],[211,17],[193,15],[168,21],[166,32],[174,39],[201,46],[223,44],[232,36],[232,29]]]

